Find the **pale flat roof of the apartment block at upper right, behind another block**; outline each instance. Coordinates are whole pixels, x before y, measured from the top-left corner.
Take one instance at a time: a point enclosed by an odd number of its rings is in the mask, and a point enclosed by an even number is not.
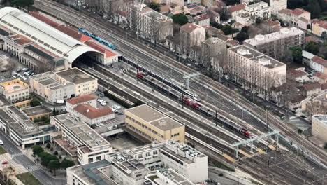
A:
[[[265,43],[270,43],[273,41],[277,41],[280,39],[285,39],[291,36],[296,36],[299,34],[305,34],[302,30],[296,28],[296,27],[291,27],[291,28],[282,28],[280,29],[279,32],[274,32],[271,34],[266,34],[266,35],[256,35],[252,39],[247,39],[243,41],[244,43],[247,43],[252,46],[259,46]]]

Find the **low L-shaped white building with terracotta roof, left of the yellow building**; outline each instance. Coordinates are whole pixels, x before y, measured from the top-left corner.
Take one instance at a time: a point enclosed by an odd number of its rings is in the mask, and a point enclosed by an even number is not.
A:
[[[115,118],[110,107],[96,108],[89,104],[79,104],[73,108],[72,114],[89,125]]]

